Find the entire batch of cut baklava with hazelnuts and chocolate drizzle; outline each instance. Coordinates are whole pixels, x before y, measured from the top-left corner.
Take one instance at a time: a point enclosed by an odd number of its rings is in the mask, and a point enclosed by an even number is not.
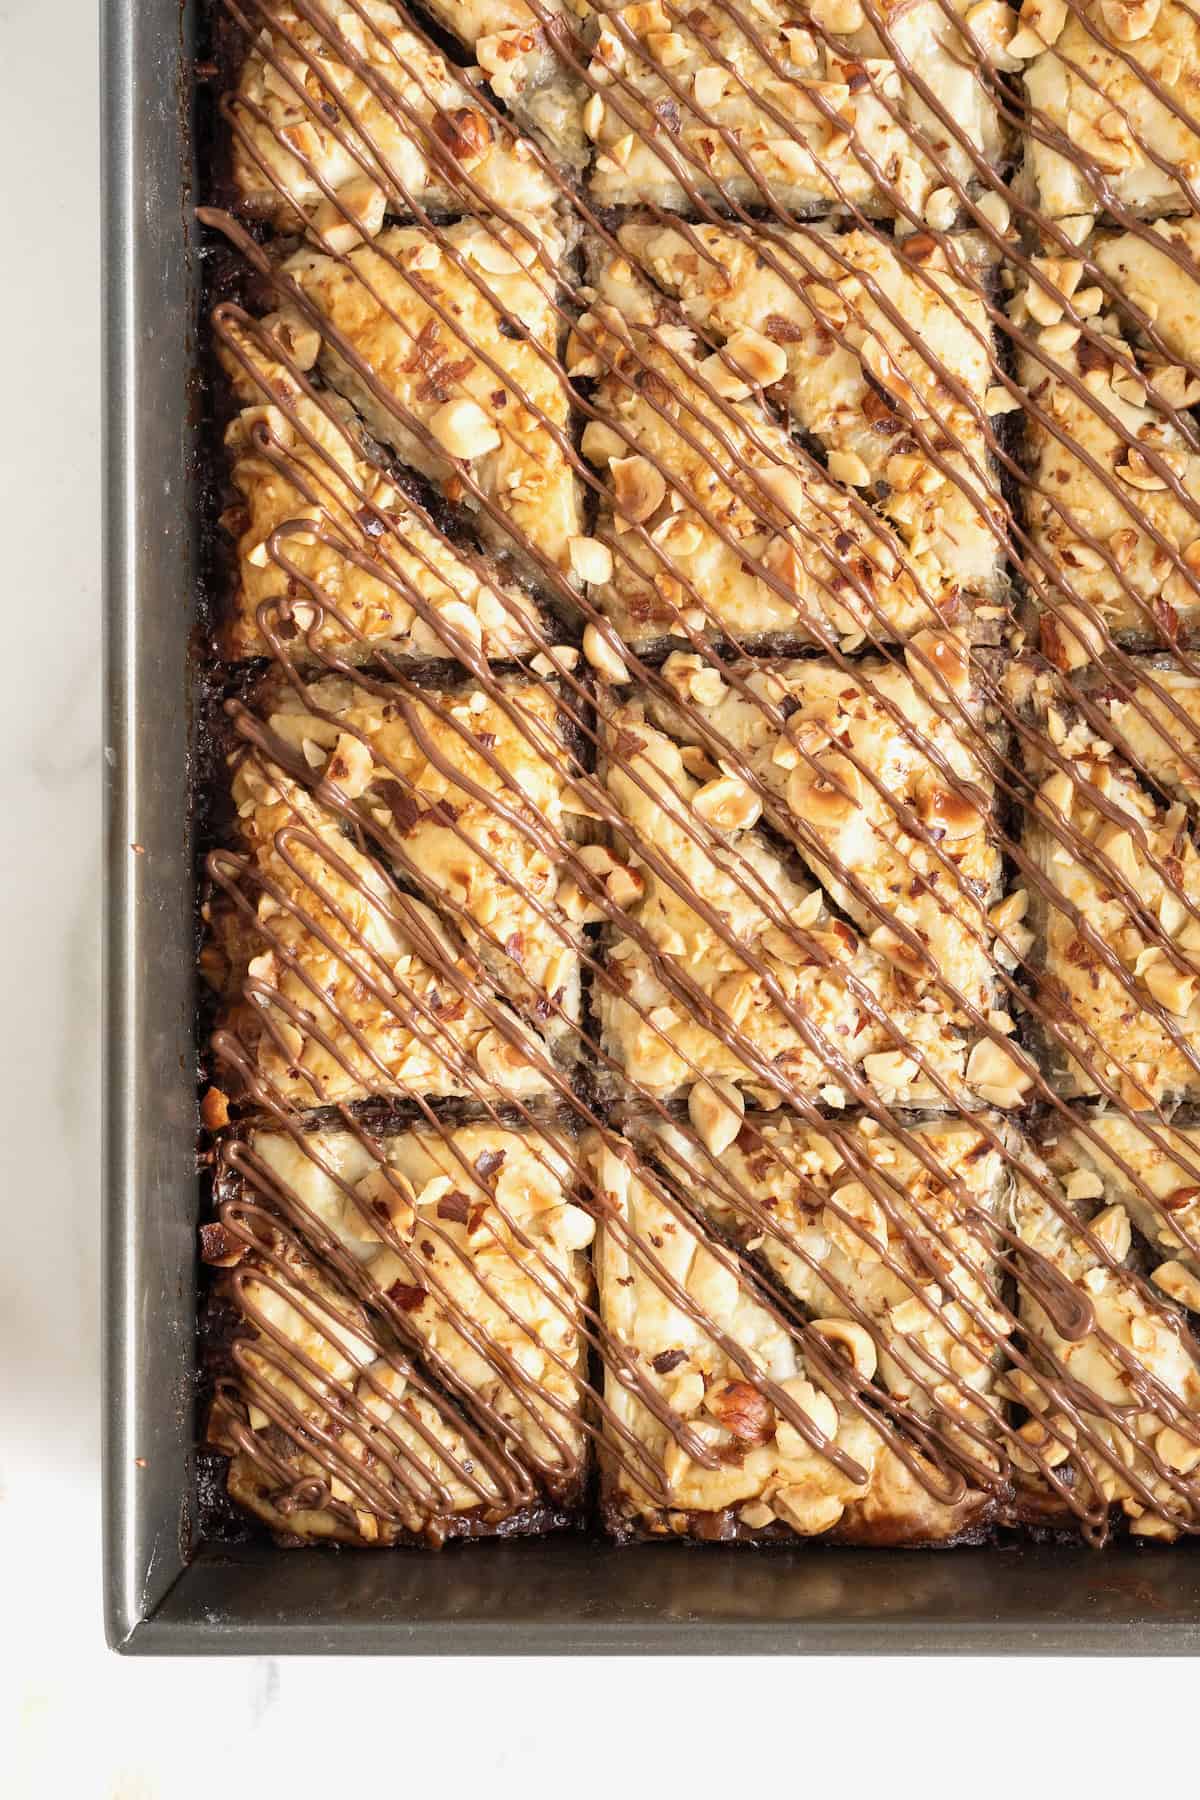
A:
[[[232,1505],[1195,1535],[1195,20],[225,11]]]

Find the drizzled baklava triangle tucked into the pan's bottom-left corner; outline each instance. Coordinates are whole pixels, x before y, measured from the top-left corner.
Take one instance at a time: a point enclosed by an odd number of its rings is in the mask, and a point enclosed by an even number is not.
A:
[[[207,1438],[239,1507],[290,1543],[378,1548],[560,1523],[270,1213],[227,1208],[201,1249],[221,1271]]]

